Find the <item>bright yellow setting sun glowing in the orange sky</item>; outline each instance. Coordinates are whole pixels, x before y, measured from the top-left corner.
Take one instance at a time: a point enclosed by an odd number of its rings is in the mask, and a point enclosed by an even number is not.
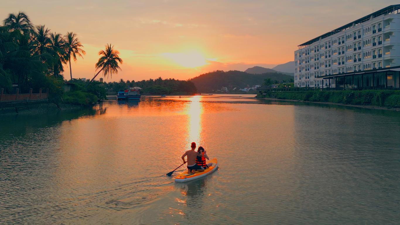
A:
[[[163,53],[162,55],[175,64],[186,68],[196,68],[208,64],[204,55],[198,51]]]

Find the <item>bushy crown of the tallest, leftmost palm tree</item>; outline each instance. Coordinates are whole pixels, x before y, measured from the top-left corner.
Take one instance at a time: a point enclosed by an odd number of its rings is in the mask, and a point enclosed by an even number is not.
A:
[[[29,17],[22,11],[19,11],[18,14],[8,14],[3,22],[4,26],[7,26],[9,31],[19,30],[24,34],[28,34],[33,28]]]

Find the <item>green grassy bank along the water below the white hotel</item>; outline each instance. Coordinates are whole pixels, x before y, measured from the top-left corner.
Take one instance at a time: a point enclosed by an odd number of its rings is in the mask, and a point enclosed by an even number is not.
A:
[[[288,91],[258,94],[258,98],[277,98],[310,102],[400,107],[400,90]]]

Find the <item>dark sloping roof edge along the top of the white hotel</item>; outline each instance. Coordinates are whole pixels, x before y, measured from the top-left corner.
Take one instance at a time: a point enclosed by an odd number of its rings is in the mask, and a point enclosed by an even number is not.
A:
[[[332,31],[330,31],[330,32],[328,32],[326,34],[322,34],[321,36],[313,38],[313,39],[309,40],[308,42],[304,42],[303,44],[300,44],[298,46],[300,47],[300,46],[310,45],[310,44],[320,40],[320,38],[323,39],[323,38],[329,37],[329,36],[331,36],[333,34],[336,34],[338,32],[341,32],[343,30],[346,30],[346,29],[352,27],[353,24],[360,24],[360,23],[363,23],[363,22],[366,22],[366,21],[370,20],[371,18],[375,18],[377,16],[381,16],[381,15],[385,15],[385,14],[394,14],[395,11],[397,11],[396,14],[398,14],[398,10],[399,9],[400,9],[400,4],[391,5],[391,6],[382,8],[381,10],[378,10],[376,12],[368,14],[368,15],[362,17],[362,18],[359,18],[358,20],[354,20],[353,22],[350,22],[350,23],[348,23],[348,24],[346,24],[344,26],[341,26],[339,28],[336,28],[336,29],[334,29],[334,30],[332,30]]]

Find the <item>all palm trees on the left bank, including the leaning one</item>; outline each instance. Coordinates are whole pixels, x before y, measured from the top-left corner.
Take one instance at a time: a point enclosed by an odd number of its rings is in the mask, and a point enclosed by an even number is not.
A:
[[[0,87],[6,92],[12,91],[12,84],[18,84],[21,92],[48,87],[50,92],[60,95],[64,66],[69,66],[70,82],[76,81],[72,78],[71,60],[83,58],[86,54],[83,47],[74,32],[64,35],[52,32],[45,25],[32,24],[22,11],[10,13],[0,26]],[[118,54],[114,46],[107,44],[99,52],[96,76],[100,72],[104,76],[118,73],[122,64]]]

